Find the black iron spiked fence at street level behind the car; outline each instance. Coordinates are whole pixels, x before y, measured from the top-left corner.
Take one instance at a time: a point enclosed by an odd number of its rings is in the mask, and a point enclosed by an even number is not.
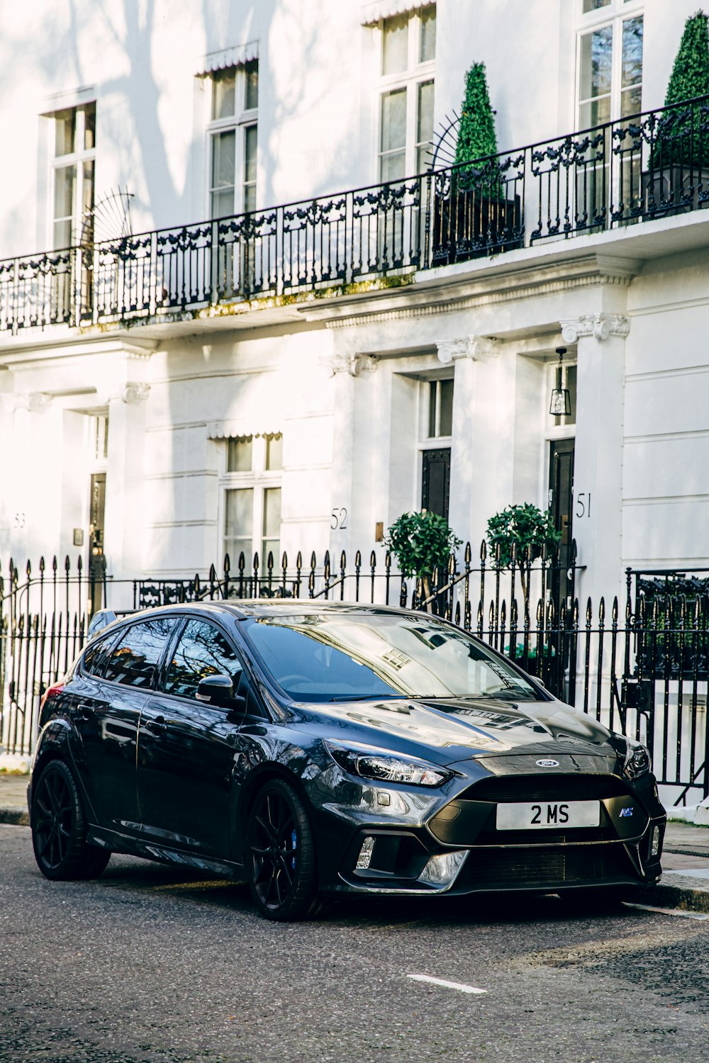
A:
[[[626,574],[623,595],[579,602],[575,552],[524,556],[502,568],[485,543],[427,585],[406,579],[389,553],[330,554],[265,567],[243,555],[218,571],[97,585],[81,559],[0,570],[0,752],[29,754],[44,690],[84,645],[89,603],[130,612],[146,606],[246,597],[407,605],[437,612],[537,675],[558,697],[647,743],[665,800],[709,795],[709,594],[698,576]],[[563,594],[560,595],[560,588]]]

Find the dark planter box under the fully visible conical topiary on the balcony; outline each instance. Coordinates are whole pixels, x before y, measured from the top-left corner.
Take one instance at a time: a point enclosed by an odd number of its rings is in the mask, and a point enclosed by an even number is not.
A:
[[[436,196],[432,232],[436,266],[521,248],[524,237],[520,197],[482,196],[475,189]]]

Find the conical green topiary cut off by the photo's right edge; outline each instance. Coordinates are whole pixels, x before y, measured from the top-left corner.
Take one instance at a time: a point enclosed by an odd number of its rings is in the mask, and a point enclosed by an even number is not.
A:
[[[686,23],[679,50],[668,84],[665,106],[709,96],[709,17],[703,11]],[[673,164],[709,167],[709,108],[693,108],[693,118],[683,109],[668,112],[660,119],[651,167]]]

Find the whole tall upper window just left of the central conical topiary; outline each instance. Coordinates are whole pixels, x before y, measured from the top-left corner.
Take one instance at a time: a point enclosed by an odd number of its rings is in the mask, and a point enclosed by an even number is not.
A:
[[[422,173],[434,135],[436,7],[382,22],[379,181]]]

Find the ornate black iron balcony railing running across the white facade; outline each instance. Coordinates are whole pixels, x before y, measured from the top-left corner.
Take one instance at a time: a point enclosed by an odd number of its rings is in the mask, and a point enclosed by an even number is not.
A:
[[[324,293],[709,202],[709,97],[266,210],[0,261],[0,332]]]

